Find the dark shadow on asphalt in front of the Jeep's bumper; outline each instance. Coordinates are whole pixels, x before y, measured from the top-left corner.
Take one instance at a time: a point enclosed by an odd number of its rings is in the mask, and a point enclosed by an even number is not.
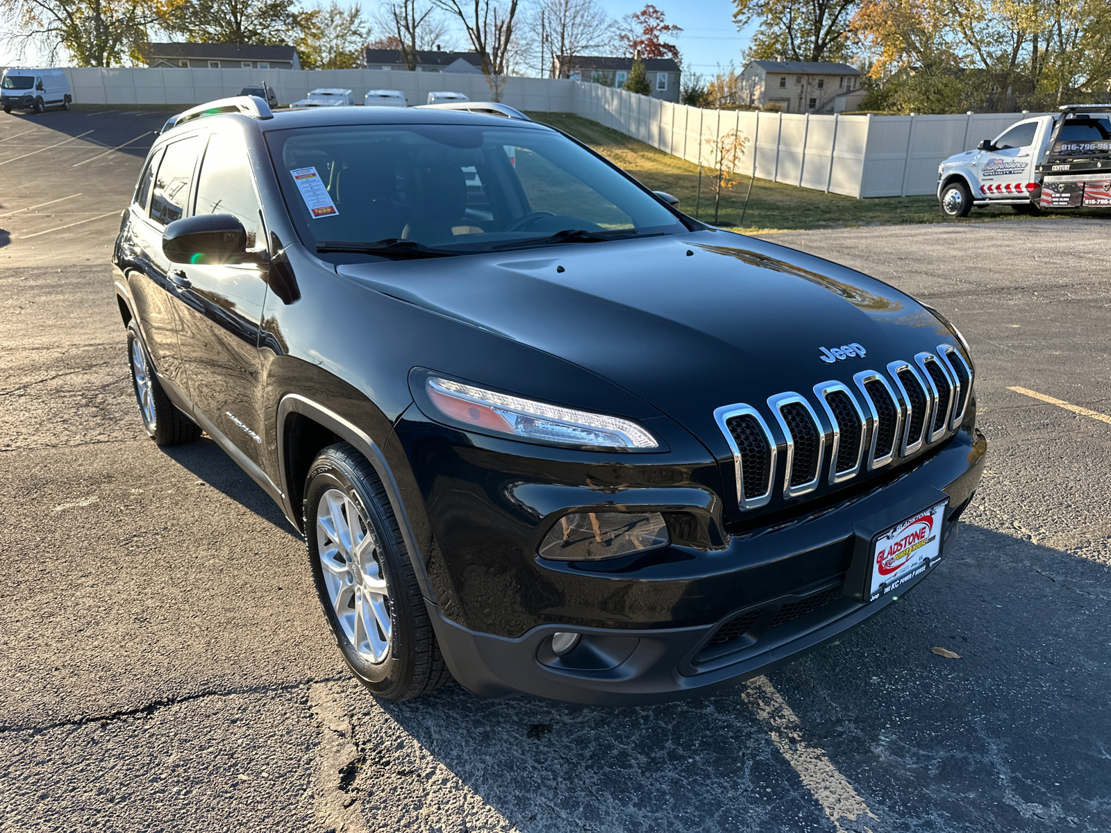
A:
[[[874,833],[1103,829],[1111,570],[961,535],[888,612],[768,674],[799,720],[790,749],[828,755]],[[605,709],[449,685],[383,707],[522,833],[832,830],[743,693]]]

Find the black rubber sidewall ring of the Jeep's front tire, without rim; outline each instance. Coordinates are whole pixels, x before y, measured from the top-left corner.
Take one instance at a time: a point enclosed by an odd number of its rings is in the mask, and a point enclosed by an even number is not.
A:
[[[399,560],[404,558],[404,553],[400,551],[384,513],[379,509],[373,495],[362,486],[360,474],[343,460],[341,454],[331,451],[321,454],[306,479],[302,506],[306,542],[317,598],[320,600],[328,629],[331,631],[340,653],[343,654],[343,660],[372,692],[389,696],[393,690],[406,684],[409,678],[408,669],[413,663],[413,626],[406,610],[403,590],[398,581]],[[338,489],[351,498],[378,538],[382,574],[389,588],[391,620],[390,650],[380,663],[368,662],[359,656],[354,645],[340,625],[328,594],[328,586],[324,583],[317,542],[317,506],[323,493],[329,489]]]

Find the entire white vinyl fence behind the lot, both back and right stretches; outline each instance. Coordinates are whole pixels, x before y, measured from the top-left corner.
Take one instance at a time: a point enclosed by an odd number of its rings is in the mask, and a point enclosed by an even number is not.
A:
[[[73,100],[87,104],[181,104],[237,96],[263,81],[280,103],[318,87],[401,90],[410,106],[434,90],[490,99],[481,74],[401,70],[66,69]],[[739,173],[850,197],[932,194],[938,163],[993,139],[1027,113],[817,116],[701,110],[569,79],[508,78],[502,101],[519,110],[573,112],[691,162],[713,164],[708,139],[748,139]]]

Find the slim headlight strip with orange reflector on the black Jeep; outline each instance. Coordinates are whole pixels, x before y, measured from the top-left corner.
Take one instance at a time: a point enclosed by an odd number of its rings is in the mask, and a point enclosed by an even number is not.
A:
[[[522,440],[648,451],[660,443],[635,422],[577,411],[430,377],[429,399],[444,415]]]

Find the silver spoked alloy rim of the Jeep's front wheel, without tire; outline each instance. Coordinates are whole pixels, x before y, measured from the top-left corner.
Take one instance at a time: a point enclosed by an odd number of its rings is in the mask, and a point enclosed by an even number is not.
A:
[[[382,552],[359,504],[339,489],[329,489],[317,503],[317,549],[343,634],[361,659],[382,662],[393,633]]]

